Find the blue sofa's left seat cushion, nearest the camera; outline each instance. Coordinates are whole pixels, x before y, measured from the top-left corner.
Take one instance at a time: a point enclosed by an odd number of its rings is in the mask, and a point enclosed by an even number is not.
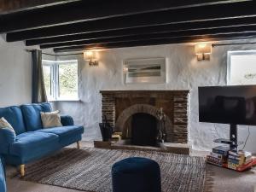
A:
[[[47,132],[28,131],[16,137],[15,143],[10,145],[9,153],[25,158],[47,154],[58,148],[57,135]]]

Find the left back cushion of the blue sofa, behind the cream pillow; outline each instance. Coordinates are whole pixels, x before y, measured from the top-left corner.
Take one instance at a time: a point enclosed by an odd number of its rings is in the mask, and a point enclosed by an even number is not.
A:
[[[26,131],[23,116],[19,107],[0,108],[0,118],[6,119],[15,129],[16,135]]]

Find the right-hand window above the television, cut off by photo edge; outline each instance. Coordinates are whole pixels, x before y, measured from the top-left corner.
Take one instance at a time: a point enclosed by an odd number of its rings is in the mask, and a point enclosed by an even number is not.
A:
[[[256,50],[229,51],[228,84],[256,84]]]

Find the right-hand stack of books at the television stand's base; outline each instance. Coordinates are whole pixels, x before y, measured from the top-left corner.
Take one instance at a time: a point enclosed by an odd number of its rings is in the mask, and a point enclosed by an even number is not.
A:
[[[247,151],[230,151],[228,157],[228,168],[236,170],[238,167],[246,166],[253,161],[253,155]]]

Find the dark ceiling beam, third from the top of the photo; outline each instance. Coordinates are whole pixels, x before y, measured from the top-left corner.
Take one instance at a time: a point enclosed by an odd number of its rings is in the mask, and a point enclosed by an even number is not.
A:
[[[90,39],[102,39],[102,38],[117,38],[126,37],[131,35],[142,35],[152,34],[160,32],[186,32],[186,31],[197,31],[197,30],[215,30],[230,28],[234,26],[239,27],[250,27],[256,25],[256,17],[249,18],[238,18],[236,20],[208,20],[199,21],[192,23],[180,23],[180,24],[167,24],[161,26],[144,26],[137,28],[128,28],[113,31],[104,32],[90,32],[90,33],[79,33],[79,34],[68,34],[67,36],[60,36],[54,38],[38,38],[32,40],[26,40],[26,46],[38,45],[38,44],[56,44],[56,43],[67,43],[81,40]]]

